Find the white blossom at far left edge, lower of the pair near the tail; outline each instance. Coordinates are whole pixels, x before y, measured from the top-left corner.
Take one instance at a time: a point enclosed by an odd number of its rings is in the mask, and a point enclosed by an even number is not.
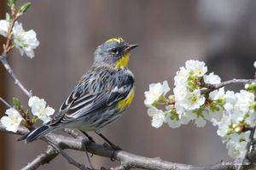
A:
[[[3,126],[6,130],[16,133],[20,126],[20,122],[23,120],[22,116],[20,116],[19,111],[16,111],[15,108],[8,109],[5,111],[5,114],[8,116],[3,116],[1,118]]]

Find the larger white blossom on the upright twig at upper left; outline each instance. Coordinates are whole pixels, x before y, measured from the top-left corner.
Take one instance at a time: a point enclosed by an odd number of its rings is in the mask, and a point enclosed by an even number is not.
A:
[[[16,21],[13,33],[15,47],[20,50],[20,54],[23,55],[25,53],[26,56],[32,59],[34,57],[33,49],[39,45],[36,32],[33,30],[24,31],[22,24]]]

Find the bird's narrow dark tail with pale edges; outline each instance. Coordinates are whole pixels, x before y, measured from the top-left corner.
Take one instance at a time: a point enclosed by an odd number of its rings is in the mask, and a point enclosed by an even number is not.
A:
[[[36,128],[31,133],[28,133],[26,138],[26,143],[32,142],[36,139],[39,139],[40,137],[44,136],[45,134],[49,133],[53,130],[53,127],[50,127],[49,125],[43,125],[41,127]]]

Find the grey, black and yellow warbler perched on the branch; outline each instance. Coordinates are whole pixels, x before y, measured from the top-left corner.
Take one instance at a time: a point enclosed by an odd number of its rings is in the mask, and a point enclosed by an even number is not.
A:
[[[121,37],[98,46],[90,71],[81,77],[52,121],[29,133],[26,142],[64,127],[97,132],[122,116],[134,97],[134,76],[127,65],[130,51],[136,47]]]

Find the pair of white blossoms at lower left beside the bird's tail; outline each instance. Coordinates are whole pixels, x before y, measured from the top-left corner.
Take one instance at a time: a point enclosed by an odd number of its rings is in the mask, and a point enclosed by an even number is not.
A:
[[[51,120],[51,115],[54,114],[55,110],[49,106],[46,106],[44,99],[39,99],[37,96],[33,96],[28,100],[28,105],[31,108],[32,115],[35,118],[40,119],[44,123],[47,123]],[[11,132],[17,132],[18,127],[21,122],[25,122],[23,116],[20,115],[20,112],[15,108],[10,108],[5,111],[7,116],[1,118],[1,123],[6,128],[6,130]]]

